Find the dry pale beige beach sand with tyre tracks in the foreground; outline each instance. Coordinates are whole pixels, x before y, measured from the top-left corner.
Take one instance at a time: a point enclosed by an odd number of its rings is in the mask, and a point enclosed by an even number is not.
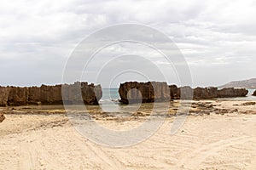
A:
[[[144,142],[119,149],[90,142],[58,111],[15,111],[0,123],[0,169],[256,169],[256,105],[207,102],[232,112],[188,116],[175,135],[168,117]],[[98,122],[122,129],[143,119]]]

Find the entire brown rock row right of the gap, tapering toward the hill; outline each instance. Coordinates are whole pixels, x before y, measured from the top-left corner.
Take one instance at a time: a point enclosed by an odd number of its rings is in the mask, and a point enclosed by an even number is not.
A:
[[[245,97],[248,91],[245,88],[177,88],[168,86],[166,82],[125,82],[120,84],[120,102],[151,103],[154,101],[168,101],[170,99],[214,99]]]

